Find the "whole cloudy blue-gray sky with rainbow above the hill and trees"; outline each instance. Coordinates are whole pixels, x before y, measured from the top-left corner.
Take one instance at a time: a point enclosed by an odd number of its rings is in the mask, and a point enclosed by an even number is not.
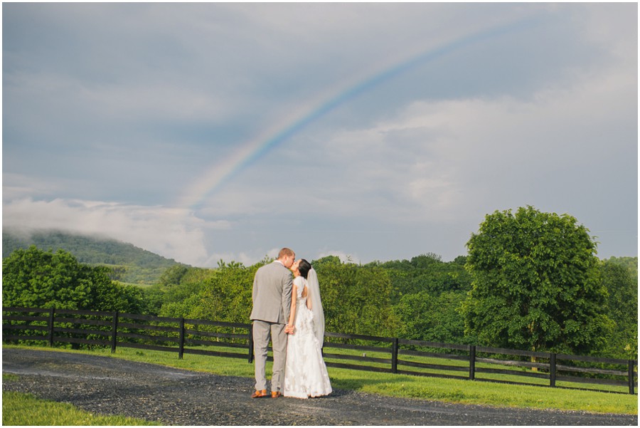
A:
[[[636,3],[2,4],[4,229],[451,261],[526,206],[638,255]]]

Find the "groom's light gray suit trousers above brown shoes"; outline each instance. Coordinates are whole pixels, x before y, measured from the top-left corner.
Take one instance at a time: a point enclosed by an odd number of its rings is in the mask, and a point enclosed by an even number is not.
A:
[[[267,389],[267,346],[269,340],[273,349],[273,374],[271,376],[271,391],[284,390],[284,362],[287,359],[287,333],[284,324],[253,321],[253,354],[255,355],[255,389]]]

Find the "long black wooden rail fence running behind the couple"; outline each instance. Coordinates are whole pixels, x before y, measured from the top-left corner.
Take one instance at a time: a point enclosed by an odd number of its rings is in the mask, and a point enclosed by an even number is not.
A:
[[[253,360],[251,324],[91,310],[3,308],[2,340]],[[328,367],[634,394],[637,360],[325,333]],[[271,357],[270,357],[271,359]],[[580,385],[580,386],[578,386]],[[607,385],[607,389],[602,389]]]

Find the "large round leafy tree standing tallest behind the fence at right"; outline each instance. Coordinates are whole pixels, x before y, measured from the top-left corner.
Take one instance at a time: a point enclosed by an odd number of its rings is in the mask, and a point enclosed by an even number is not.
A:
[[[503,348],[589,353],[611,322],[596,243],[568,215],[494,212],[466,244],[466,333]]]

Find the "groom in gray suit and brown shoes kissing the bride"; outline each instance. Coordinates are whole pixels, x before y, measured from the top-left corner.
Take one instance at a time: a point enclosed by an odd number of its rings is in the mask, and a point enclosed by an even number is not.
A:
[[[253,279],[253,353],[255,355],[255,392],[252,398],[267,396],[267,346],[271,338],[273,375],[271,397],[282,397],[284,362],[287,356],[287,333],[284,330],[291,311],[292,273],[289,268],[296,254],[283,248],[278,259],[260,267]]]

